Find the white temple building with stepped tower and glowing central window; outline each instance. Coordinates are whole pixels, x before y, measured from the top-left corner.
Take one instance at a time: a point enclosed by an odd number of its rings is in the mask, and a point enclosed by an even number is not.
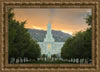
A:
[[[51,58],[51,55],[53,54],[60,56],[61,48],[64,44],[64,42],[55,42],[51,31],[51,24],[49,22],[47,24],[47,34],[44,41],[38,42],[41,48],[41,54],[47,55],[48,58]]]

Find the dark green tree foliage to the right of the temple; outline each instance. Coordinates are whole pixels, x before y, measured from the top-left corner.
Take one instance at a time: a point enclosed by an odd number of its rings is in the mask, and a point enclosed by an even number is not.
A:
[[[88,15],[86,23],[92,25],[92,16]],[[63,59],[70,58],[90,58],[92,45],[92,28],[87,28],[86,31],[77,32],[75,36],[66,40],[61,49],[61,57]]]

